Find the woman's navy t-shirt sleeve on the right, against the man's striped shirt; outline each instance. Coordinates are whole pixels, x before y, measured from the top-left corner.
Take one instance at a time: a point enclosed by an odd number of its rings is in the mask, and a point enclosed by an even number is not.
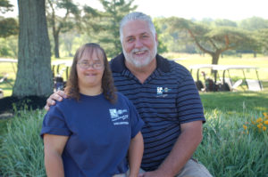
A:
[[[134,138],[144,125],[143,120],[139,117],[137,109],[130,102],[130,121],[131,121],[131,138]]]

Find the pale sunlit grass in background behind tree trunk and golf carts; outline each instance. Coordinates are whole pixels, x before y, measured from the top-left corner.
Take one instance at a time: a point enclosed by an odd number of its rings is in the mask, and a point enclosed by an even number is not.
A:
[[[189,69],[190,65],[193,64],[210,64],[211,63],[211,57],[207,54],[205,55],[199,55],[199,54],[186,54],[186,53],[163,53],[163,56],[168,59],[180,59],[177,60],[178,63],[185,66]],[[55,60],[54,58],[52,60]],[[64,57],[57,60],[72,60],[71,57]],[[253,58],[252,54],[243,54],[243,58],[239,58],[236,56],[225,56],[223,58],[220,58],[219,64],[222,65],[250,65],[258,67],[258,74],[259,78],[262,81],[264,85],[264,90],[268,89],[268,57],[259,56],[257,58]],[[13,68],[12,63],[1,63],[0,65],[0,78],[4,76],[5,73],[8,74],[9,83],[14,84],[15,78],[16,78],[16,68]],[[63,66],[60,68],[63,69]],[[210,76],[210,70],[209,69],[203,69],[205,73]],[[220,76],[222,76],[222,72],[219,73]],[[247,78],[256,79],[255,70],[246,70],[245,72]],[[192,73],[193,77],[197,78],[197,71],[193,70]],[[228,76],[228,75],[227,75]],[[243,73],[241,70],[231,70],[230,71],[231,78],[234,78],[233,80],[236,80],[238,78],[243,77]],[[213,76],[210,76],[213,78]],[[66,79],[65,72],[63,72],[63,78]],[[13,86],[11,84],[0,83],[0,88],[4,90],[4,96],[10,96],[12,95],[12,89]],[[239,87],[240,91],[247,90],[247,87],[245,86],[245,83],[243,84],[243,87]]]

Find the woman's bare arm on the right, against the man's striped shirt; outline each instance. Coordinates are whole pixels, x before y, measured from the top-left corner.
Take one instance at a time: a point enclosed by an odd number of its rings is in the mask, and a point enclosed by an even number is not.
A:
[[[129,161],[130,161],[130,175],[129,177],[137,177],[141,159],[143,156],[143,137],[140,132],[136,134],[130,141]]]

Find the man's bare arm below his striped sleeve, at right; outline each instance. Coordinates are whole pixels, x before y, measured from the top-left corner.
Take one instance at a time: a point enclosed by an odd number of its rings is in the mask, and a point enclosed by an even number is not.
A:
[[[203,139],[202,121],[181,124],[181,133],[169,156],[157,170],[144,173],[144,177],[173,177],[186,165]]]

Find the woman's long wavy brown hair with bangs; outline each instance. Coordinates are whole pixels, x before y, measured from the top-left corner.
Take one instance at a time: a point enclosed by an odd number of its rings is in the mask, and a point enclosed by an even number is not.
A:
[[[79,81],[78,81],[76,65],[78,63],[78,60],[80,60],[80,58],[83,56],[84,52],[89,52],[89,53],[96,52],[97,57],[99,59],[104,60],[105,71],[102,77],[102,89],[105,95],[105,99],[114,103],[117,99],[117,96],[115,93],[116,89],[113,84],[112,71],[111,71],[109,62],[107,60],[105,50],[99,44],[95,44],[95,43],[83,44],[76,51],[72,60],[70,76],[67,81],[67,86],[65,88],[65,91],[68,97],[74,98],[77,101],[80,100],[80,88],[79,88],[79,83],[78,83]]]

